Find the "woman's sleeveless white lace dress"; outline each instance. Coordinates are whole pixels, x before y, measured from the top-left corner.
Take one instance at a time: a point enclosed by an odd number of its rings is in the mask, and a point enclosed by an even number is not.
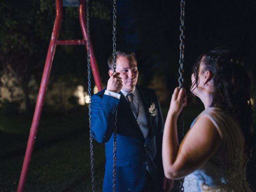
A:
[[[208,162],[185,177],[184,192],[251,192],[244,165],[244,136],[237,120],[210,107],[194,122],[202,115],[216,126],[222,142]]]

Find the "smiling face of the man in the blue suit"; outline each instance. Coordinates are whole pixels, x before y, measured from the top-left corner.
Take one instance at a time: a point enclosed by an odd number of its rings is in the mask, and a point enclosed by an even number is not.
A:
[[[131,92],[138,80],[137,63],[134,57],[119,56],[116,59],[116,72],[119,72],[120,77],[122,78],[122,90]],[[109,70],[109,75],[112,76],[112,74],[113,70]]]

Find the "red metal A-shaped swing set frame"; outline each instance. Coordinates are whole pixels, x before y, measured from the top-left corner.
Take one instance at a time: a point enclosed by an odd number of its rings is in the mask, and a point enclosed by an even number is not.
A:
[[[24,190],[24,185],[26,181],[26,176],[28,174],[28,167],[31,160],[31,155],[34,147],[34,142],[36,140],[36,132],[39,124],[40,115],[42,112],[42,106],[44,101],[44,95],[46,92],[46,87],[48,84],[50,71],[52,67],[52,61],[54,58],[54,53],[56,50],[56,45],[86,45],[87,40],[87,31],[86,31],[86,19],[85,19],[85,2],[84,0],[79,0],[79,20],[80,20],[80,26],[82,30],[82,34],[84,39],[82,40],[58,40],[59,32],[60,32],[60,26],[62,21],[62,0],[56,0],[56,18],[54,21],[54,26],[52,30],[52,36],[46,56],[46,61],[44,65],[44,72],[40,84],[40,89],[36,101],[36,108],[34,111],[34,116],[30,128],[30,134],[28,137],[28,144],[26,148],[26,153],[22,165],[22,171],[20,174],[20,180],[18,184],[17,192],[22,192]],[[87,49],[87,46],[86,46]],[[92,74],[94,76],[94,81],[96,86],[98,87],[98,90],[102,90],[102,84],[100,80],[100,74],[98,71],[98,66],[96,62],[96,58],[94,56],[94,51],[92,48],[92,43],[90,43],[90,62],[91,62],[91,68],[92,68]]]

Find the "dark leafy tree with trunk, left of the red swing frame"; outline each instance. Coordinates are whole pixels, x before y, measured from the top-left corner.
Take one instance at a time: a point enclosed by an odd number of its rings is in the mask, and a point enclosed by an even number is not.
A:
[[[26,111],[30,110],[28,83],[42,69],[47,46],[49,28],[42,20],[49,21],[51,12],[40,5],[37,0],[0,2],[0,65],[22,88]]]

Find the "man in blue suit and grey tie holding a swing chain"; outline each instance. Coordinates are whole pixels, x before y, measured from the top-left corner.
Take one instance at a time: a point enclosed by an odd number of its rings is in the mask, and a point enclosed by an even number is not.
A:
[[[108,58],[107,88],[91,98],[93,138],[105,143],[103,192],[112,191],[113,133],[117,111],[116,192],[170,191],[173,180],[164,177],[162,131],[164,121],[154,90],[136,85],[135,54],[116,52]]]

